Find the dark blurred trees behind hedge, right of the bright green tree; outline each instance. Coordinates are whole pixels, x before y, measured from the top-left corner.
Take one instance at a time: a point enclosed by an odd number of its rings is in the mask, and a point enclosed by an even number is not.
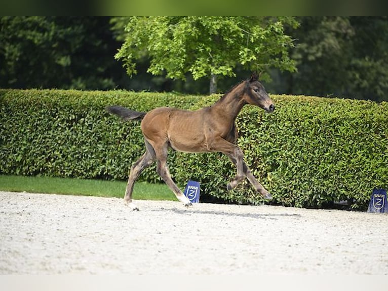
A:
[[[297,73],[282,93],[375,101],[388,94],[387,17],[300,17],[289,31]]]

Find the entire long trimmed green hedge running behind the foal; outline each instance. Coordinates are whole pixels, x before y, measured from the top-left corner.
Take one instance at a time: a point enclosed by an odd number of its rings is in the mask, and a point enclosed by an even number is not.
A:
[[[104,107],[148,111],[159,106],[195,110],[219,96],[73,90],[0,90],[0,174],[126,179],[143,151],[139,122],[122,122]],[[271,95],[276,111],[245,106],[237,119],[239,145],[273,204],[322,207],[352,201],[366,209],[373,188],[388,184],[386,102]],[[259,204],[245,181],[226,191],[235,167],[219,153],[170,152],[179,187],[201,182],[203,198]],[[155,167],[140,180],[161,181]],[[173,194],[172,194],[173,195]]]

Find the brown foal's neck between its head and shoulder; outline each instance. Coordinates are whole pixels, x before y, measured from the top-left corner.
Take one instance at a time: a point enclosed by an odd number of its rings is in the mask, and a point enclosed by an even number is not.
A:
[[[212,107],[223,119],[230,119],[230,121],[234,122],[245,105],[245,102],[242,100],[243,94],[244,86],[238,86],[218,100]]]

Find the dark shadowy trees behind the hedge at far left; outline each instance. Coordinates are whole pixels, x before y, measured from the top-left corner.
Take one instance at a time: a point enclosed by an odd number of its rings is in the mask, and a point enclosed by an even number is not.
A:
[[[0,86],[113,89],[125,70],[108,17],[0,17]]]

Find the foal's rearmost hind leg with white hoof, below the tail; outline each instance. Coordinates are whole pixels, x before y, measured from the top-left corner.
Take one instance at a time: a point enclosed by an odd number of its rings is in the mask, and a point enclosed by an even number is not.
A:
[[[139,210],[132,202],[133,186],[140,173],[148,166],[150,166],[156,159],[155,152],[148,141],[145,140],[146,151],[144,155],[132,164],[131,171],[128,177],[127,189],[125,190],[124,203],[132,208],[132,210]]]

